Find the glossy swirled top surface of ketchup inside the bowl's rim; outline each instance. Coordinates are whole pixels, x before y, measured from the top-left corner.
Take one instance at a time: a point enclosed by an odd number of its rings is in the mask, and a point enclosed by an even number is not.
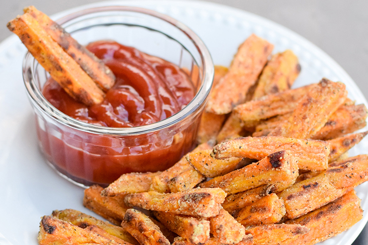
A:
[[[104,61],[116,82],[102,103],[87,107],[49,79],[43,95],[70,117],[107,127],[142,126],[174,115],[194,98],[188,75],[170,62],[113,41],[94,42],[86,48]]]

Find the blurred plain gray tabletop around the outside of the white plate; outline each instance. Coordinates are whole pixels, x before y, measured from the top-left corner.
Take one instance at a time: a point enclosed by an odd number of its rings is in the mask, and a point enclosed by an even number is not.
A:
[[[6,23],[28,5],[52,15],[99,0],[0,0],[0,41],[11,35]],[[174,1],[174,0],[173,0]],[[246,10],[284,25],[330,55],[368,98],[367,0],[209,0]],[[368,244],[368,228],[353,245]]]

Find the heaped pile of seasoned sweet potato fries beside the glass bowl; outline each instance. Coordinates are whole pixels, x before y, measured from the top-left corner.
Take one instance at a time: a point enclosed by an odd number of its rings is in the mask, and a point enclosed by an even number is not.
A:
[[[85,190],[109,222],[54,211],[39,244],[313,245],[361,220],[368,155],[347,151],[368,133],[354,133],[366,106],[326,78],[290,89],[298,59],[272,49],[251,35],[229,69],[215,67],[199,145],[173,167]]]

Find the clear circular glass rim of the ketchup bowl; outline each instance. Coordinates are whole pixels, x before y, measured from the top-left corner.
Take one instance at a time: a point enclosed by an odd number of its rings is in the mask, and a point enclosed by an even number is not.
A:
[[[90,123],[84,123],[77,119],[74,119],[66,114],[62,113],[61,111],[57,110],[41,93],[41,91],[37,88],[35,84],[35,77],[32,71],[32,78],[29,79],[27,76],[27,67],[31,64],[31,69],[33,70],[34,64],[38,63],[37,60],[29,53],[26,52],[26,55],[23,59],[23,80],[26,85],[26,90],[28,96],[31,99],[31,102],[34,106],[39,107],[42,112],[46,113],[47,115],[51,116],[53,119],[57,120],[58,122],[70,126],[72,128],[94,133],[94,134],[108,134],[108,135],[116,135],[116,136],[131,136],[131,135],[141,135],[150,132],[155,132],[170,126],[173,126],[185,118],[190,116],[192,113],[198,110],[198,108],[205,103],[206,98],[210,93],[210,89],[213,82],[214,76],[214,66],[212,62],[212,58],[210,55],[209,50],[207,49],[206,45],[203,41],[192,31],[189,27],[184,25],[183,23],[175,20],[172,17],[167,15],[158,13],[157,11],[140,8],[140,7],[133,7],[133,6],[102,6],[102,7],[93,7],[93,8],[86,8],[79,10],[77,12],[71,13],[64,17],[59,18],[55,22],[59,25],[65,24],[68,21],[76,19],[78,17],[82,17],[89,14],[99,13],[99,12],[136,12],[141,13],[149,16],[153,16],[164,22],[175,26],[180,31],[182,31],[189,39],[191,39],[192,43],[194,44],[195,48],[198,50],[200,58],[203,62],[203,77],[202,77],[202,84],[198,89],[194,98],[178,113],[174,114],[173,116],[166,118],[164,120],[158,121],[156,123],[137,126],[137,127],[106,127],[106,126],[99,126]]]

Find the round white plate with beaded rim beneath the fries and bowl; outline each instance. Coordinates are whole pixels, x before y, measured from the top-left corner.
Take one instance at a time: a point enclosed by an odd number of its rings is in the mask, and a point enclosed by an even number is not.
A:
[[[274,52],[292,49],[299,57],[302,72],[295,86],[314,83],[322,77],[346,84],[349,97],[357,103],[367,101],[352,79],[323,51],[309,41],[262,17],[223,5],[200,1],[109,1],[90,4],[135,5],[170,15],[192,28],[210,49],[213,61],[228,66],[238,45],[255,33],[275,45]],[[64,11],[53,18],[83,7]],[[92,213],[82,206],[83,189],[75,186],[46,164],[37,147],[32,110],[22,79],[22,60],[26,48],[15,35],[0,44],[0,244],[37,245],[40,218],[55,209],[73,208]],[[367,128],[365,129],[367,130]],[[368,139],[350,150],[350,155],[368,153]],[[356,188],[362,208],[368,210],[365,189]],[[368,220],[364,218],[350,230],[326,240],[323,245],[350,245]]]

